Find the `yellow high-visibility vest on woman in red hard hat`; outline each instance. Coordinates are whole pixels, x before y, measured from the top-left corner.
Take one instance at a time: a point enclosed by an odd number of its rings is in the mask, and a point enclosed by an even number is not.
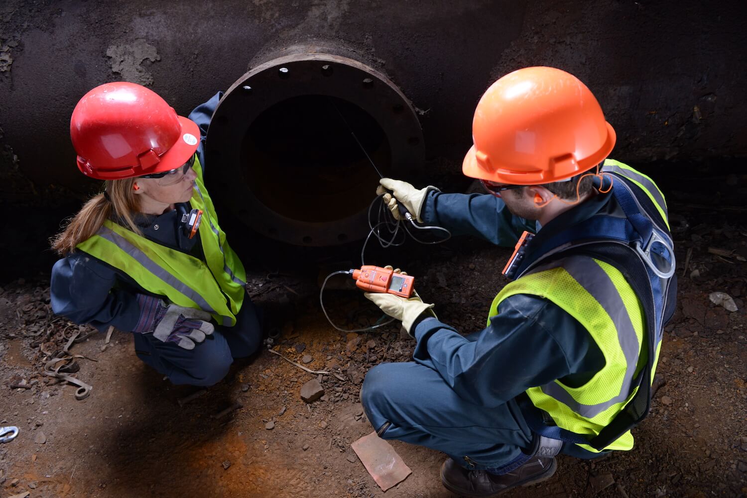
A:
[[[197,178],[190,205],[202,209],[198,231],[205,261],[162,246],[111,220],[77,248],[126,273],[149,293],[165,296],[176,305],[208,311],[218,324],[232,326],[244,302],[247,276],[218,225],[199,160],[193,168]]]

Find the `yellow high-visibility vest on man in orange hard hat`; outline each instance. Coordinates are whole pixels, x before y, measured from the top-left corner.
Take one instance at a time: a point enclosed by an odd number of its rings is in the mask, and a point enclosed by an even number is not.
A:
[[[602,171],[614,172],[641,188],[667,223],[664,196],[651,178],[609,159],[604,162]],[[519,293],[554,302],[589,331],[604,355],[604,367],[579,387],[564,385],[556,379],[526,391],[533,405],[547,412],[557,426],[593,438],[633,399],[647,364],[649,352],[644,334],[648,332],[639,297],[616,267],[589,255],[578,254],[540,264],[507,284],[495,296],[488,316],[498,315],[500,302]],[[660,334],[657,331],[651,333],[657,336],[654,341],[655,369]],[[652,370],[651,379],[653,376]],[[587,444],[579,446],[598,451]],[[633,435],[628,430],[604,449],[632,447]]]

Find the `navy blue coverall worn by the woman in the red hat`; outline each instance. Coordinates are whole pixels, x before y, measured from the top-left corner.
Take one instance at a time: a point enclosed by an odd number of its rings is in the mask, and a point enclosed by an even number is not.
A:
[[[200,129],[197,154],[203,171],[205,134],[220,95],[217,93],[189,115]],[[190,239],[182,230],[180,208],[186,212],[191,209],[187,202],[177,205],[175,211],[158,216],[138,214],[134,220],[150,240],[203,259],[199,233]],[[136,293],[147,292],[125,273],[81,251],[59,260],[52,268],[52,311],[101,331],[109,326],[123,332],[134,329],[140,318]],[[161,342],[152,334],[134,334],[135,352],[174,384],[214,385],[226,376],[234,358],[252,355],[260,346],[258,311],[249,296],[244,296],[235,326],[215,326],[215,332],[196,343],[194,349]]]

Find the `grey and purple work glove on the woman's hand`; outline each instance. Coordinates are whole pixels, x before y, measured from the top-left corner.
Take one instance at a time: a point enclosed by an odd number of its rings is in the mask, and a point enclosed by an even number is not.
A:
[[[145,294],[137,294],[137,303],[140,305],[140,320],[132,332],[152,333],[161,342],[194,349],[195,343],[201,343],[215,330],[207,311],[166,305],[158,297]]]

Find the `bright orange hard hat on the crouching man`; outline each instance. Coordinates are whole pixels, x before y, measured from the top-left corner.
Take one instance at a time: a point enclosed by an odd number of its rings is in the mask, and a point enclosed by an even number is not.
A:
[[[604,161],[615,137],[578,78],[553,67],[526,67],[500,78],[480,99],[462,172],[502,184],[560,181]]]

